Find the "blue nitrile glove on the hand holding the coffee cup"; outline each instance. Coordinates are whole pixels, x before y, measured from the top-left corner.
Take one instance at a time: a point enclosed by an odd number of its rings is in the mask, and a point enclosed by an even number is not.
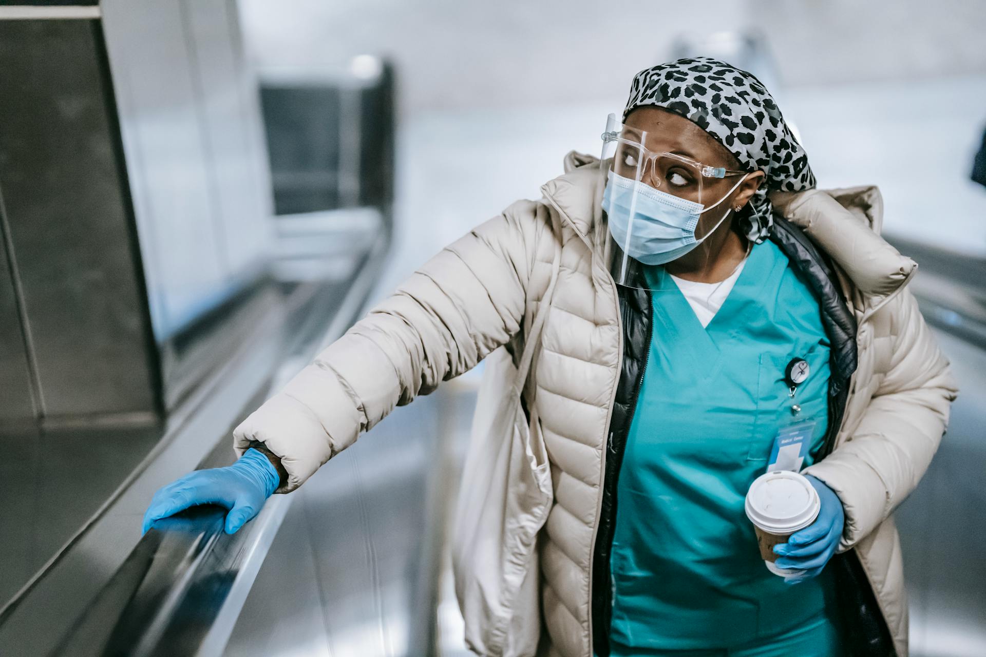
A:
[[[821,572],[839,547],[846,522],[839,496],[811,475],[805,478],[818,493],[821,509],[808,527],[792,534],[787,543],[774,546],[774,554],[780,555],[775,561],[777,567],[799,571],[784,578],[788,584],[803,582]]]

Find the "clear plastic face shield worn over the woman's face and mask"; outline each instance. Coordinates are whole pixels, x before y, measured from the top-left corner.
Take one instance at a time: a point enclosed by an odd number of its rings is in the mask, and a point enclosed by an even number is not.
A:
[[[601,242],[617,285],[668,288],[661,265],[692,251],[708,258],[705,238],[731,218],[723,201],[747,175],[648,148],[660,143],[609,114],[599,167],[609,230]]]

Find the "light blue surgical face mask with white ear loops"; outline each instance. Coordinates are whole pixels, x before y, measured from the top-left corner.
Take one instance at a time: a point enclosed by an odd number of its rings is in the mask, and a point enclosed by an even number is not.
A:
[[[624,253],[645,265],[663,265],[698,246],[726,221],[732,209],[726,211],[705,237],[695,238],[695,227],[702,213],[722,203],[740,182],[706,208],[701,203],[680,199],[609,171],[602,208],[609,218],[609,232]]]

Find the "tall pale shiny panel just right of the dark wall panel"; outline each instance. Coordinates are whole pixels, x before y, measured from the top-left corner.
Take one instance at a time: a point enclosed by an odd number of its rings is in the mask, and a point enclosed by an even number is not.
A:
[[[102,4],[159,341],[230,293],[182,6],[179,0]]]

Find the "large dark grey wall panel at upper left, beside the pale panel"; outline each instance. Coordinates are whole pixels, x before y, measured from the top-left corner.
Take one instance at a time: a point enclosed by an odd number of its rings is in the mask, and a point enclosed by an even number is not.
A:
[[[156,408],[98,26],[0,22],[0,190],[47,418]]]

